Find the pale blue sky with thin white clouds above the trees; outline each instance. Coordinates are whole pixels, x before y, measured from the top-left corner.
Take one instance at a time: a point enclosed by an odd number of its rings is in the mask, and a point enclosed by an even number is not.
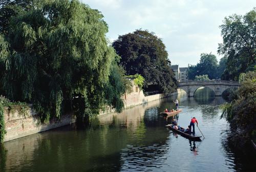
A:
[[[172,65],[196,65],[201,53],[219,60],[224,17],[245,15],[256,7],[255,0],[80,0],[99,10],[109,25],[111,41],[136,29],[154,32],[165,44]]]

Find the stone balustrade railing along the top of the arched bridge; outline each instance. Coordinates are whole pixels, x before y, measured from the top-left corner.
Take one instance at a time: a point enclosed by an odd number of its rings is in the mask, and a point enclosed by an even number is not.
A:
[[[210,80],[210,81],[187,81],[187,82],[179,82],[178,86],[183,85],[216,85],[216,84],[222,84],[222,85],[234,85],[239,86],[240,83],[237,81],[225,81],[225,80]]]

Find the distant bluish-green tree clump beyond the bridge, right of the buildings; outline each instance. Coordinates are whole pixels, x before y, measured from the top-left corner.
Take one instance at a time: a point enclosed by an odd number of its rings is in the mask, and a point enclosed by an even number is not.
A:
[[[196,75],[208,75],[210,79],[218,77],[218,61],[214,54],[202,53],[200,62],[188,67],[188,79],[195,79]]]

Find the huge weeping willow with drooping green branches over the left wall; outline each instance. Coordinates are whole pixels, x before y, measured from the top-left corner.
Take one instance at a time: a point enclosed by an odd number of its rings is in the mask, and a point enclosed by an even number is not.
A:
[[[42,121],[67,111],[88,119],[106,104],[121,111],[123,73],[102,18],[75,0],[44,1],[11,17],[0,36],[2,92],[33,103]]]

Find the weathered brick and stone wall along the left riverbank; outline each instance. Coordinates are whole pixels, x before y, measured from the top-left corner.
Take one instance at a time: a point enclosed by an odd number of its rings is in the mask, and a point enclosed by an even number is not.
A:
[[[123,99],[125,109],[129,109],[133,106],[145,104],[168,96],[177,95],[179,93],[180,90],[178,89],[177,92],[167,96],[162,94],[144,96],[143,91],[138,90],[136,85],[133,85],[133,92],[131,94],[125,94]],[[99,116],[111,113],[113,111],[114,110],[100,112]],[[39,116],[32,109],[32,105],[29,105],[29,108],[26,110],[21,110],[20,106],[13,106],[12,110],[9,110],[7,107],[5,107],[4,118],[6,130],[4,142],[76,122],[75,115],[73,113],[69,113],[61,116],[61,118],[58,120],[51,120],[48,123],[41,123]]]

